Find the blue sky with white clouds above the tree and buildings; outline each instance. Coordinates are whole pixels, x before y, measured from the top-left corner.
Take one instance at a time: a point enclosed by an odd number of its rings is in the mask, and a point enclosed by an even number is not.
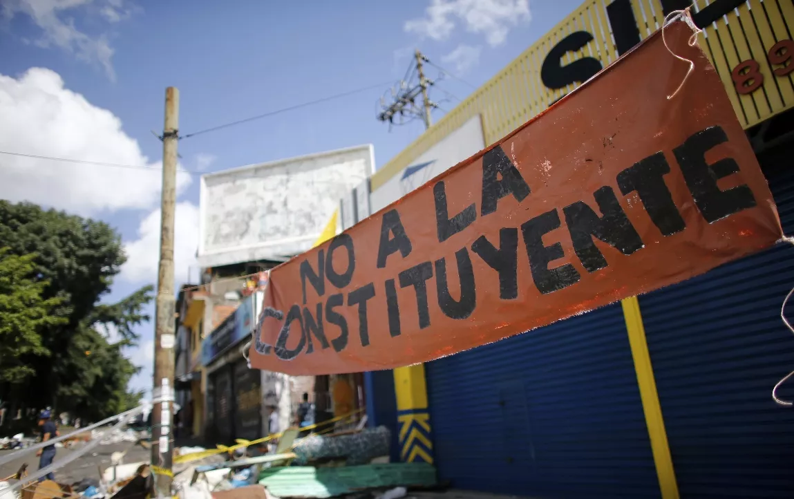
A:
[[[580,0],[162,2],[6,0],[0,6],[0,150],[159,168],[164,89],[181,94],[191,133],[285,106],[399,80],[414,48],[475,86],[518,56]],[[33,69],[32,69],[33,68]],[[438,79],[439,72],[428,68]],[[378,167],[422,133],[376,121],[388,85],[185,139],[182,166],[244,164],[375,145]],[[445,77],[431,98],[452,109],[472,87]],[[435,118],[443,115],[435,111]],[[108,300],[156,278],[156,170],[0,154],[0,198],[110,222],[129,254]],[[176,279],[197,246],[198,177],[179,178]],[[197,275],[192,267],[190,275]],[[152,311],[153,312],[153,311]],[[153,315],[153,313],[152,313]],[[129,352],[151,385],[153,323]]]

